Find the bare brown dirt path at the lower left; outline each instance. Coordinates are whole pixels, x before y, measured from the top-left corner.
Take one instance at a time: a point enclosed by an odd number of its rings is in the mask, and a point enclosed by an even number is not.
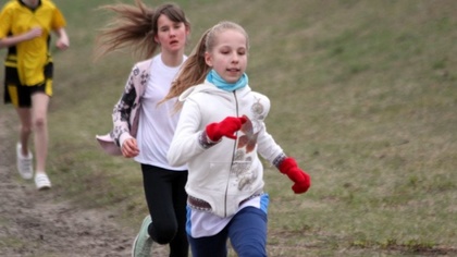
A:
[[[52,189],[38,192],[20,178],[14,112],[0,109],[0,256],[129,256],[135,234],[123,231],[112,215],[57,203]]]

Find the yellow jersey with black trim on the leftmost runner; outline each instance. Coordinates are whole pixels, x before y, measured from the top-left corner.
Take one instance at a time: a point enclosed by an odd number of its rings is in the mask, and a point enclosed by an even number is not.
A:
[[[51,62],[49,45],[52,30],[66,25],[60,10],[49,0],[40,0],[35,9],[21,0],[9,1],[0,13],[0,38],[21,35],[41,27],[42,35],[10,47],[7,68],[17,69],[22,85],[37,85],[45,81],[44,68]]]

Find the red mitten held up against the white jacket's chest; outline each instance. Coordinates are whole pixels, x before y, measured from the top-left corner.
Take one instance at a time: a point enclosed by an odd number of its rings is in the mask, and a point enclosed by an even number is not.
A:
[[[207,125],[207,136],[212,142],[219,142],[222,136],[236,139],[235,133],[242,128],[242,125],[247,121],[246,117],[227,117],[223,121],[211,123]]]

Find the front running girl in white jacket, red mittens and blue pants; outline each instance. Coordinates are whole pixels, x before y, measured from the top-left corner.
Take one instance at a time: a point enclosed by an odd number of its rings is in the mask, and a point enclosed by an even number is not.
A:
[[[186,231],[194,257],[267,256],[268,194],[260,154],[308,191],[310,176],[267,132],[269,99],[248,86],[248,36],[222,22],[207,30],[165,99],[183,102],[168,159],[188,164]]]

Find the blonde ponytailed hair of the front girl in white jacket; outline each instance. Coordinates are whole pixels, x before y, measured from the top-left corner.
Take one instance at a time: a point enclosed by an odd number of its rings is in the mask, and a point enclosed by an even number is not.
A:
[[[205,61],[205,53],[211,52],[213,50],[218,35],[227,29],[235,29],[244,34],[246,37],[246,48],[249,49],[248,35],[240,25],[227,21],[218,23],[203,33],[190,56],[183,63],[176,79],[174,79],[172,83],[169,94],[165,96],[165,98],[163,98],[161,102],[177,97],[187,88],[205,82],[208,72],[211,70],[211,68]],[[176,110],[180,110],[181,107],[182,103],[177,101]]]

